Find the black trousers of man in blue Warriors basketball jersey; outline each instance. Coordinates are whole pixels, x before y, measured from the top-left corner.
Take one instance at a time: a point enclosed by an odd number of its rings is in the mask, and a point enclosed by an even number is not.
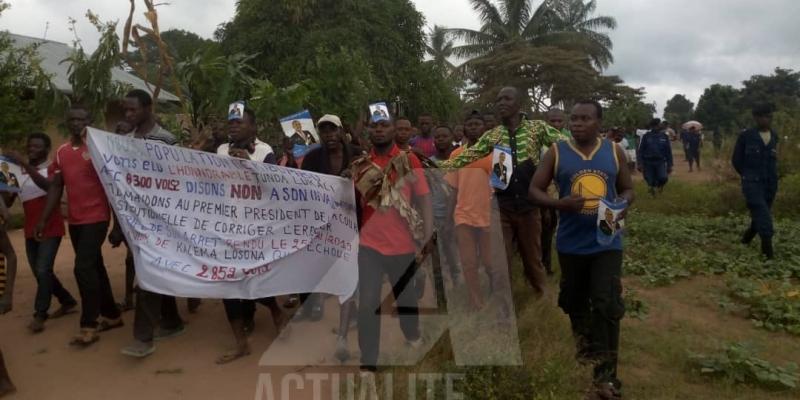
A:
[[[558,305],[569,315],[578,356],[596,362],[596,382],[617,382],[622,300],[622,252],[590,255],[559,253]]]

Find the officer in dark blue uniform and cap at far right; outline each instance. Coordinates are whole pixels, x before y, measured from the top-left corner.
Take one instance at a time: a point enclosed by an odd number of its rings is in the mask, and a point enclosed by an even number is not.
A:
[[[750,227],[742,237],[750,244],[761,237],[761,252],[773,258],[772,203],[778,192],[778,134],[772,130],[772,107],[753,109],[756,127],[743,131],[733,150],[733,168],[742,177],[742,192],[750,209]]]

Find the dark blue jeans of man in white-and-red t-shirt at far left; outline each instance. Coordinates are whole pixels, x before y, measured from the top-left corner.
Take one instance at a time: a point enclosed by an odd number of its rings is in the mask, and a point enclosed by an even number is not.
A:
[[[33,307],[35,311],[33,316],[36,318],[47,319],[51,296],[55,296],[61,305],[77,304],[75,298],[61,285],[53,272],[53,264],[60,245],[61,237],[45,238],[41,242],[34,239],[25,240],[28,263],[37,283],[36,301]]]

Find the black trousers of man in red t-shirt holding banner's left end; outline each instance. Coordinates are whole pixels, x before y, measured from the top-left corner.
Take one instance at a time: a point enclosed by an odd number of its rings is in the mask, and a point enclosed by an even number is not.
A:
[[[69,226],[75,250],[75,280],[81,295],[81,328],[97,328],[101,315],[108,319],[120,316],[103,263],[102,246],[107,232],[108,221]]]

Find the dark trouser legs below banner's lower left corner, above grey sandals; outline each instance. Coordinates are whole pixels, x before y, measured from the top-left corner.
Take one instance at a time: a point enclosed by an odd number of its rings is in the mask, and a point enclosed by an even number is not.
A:
[[[133,337],[140,342],[153,341],[157,326],[173,330],[183,327],[178,313],[178,303],[174,296],[148,292],[142,288],[136,291],[136,315],[133,318]]]

